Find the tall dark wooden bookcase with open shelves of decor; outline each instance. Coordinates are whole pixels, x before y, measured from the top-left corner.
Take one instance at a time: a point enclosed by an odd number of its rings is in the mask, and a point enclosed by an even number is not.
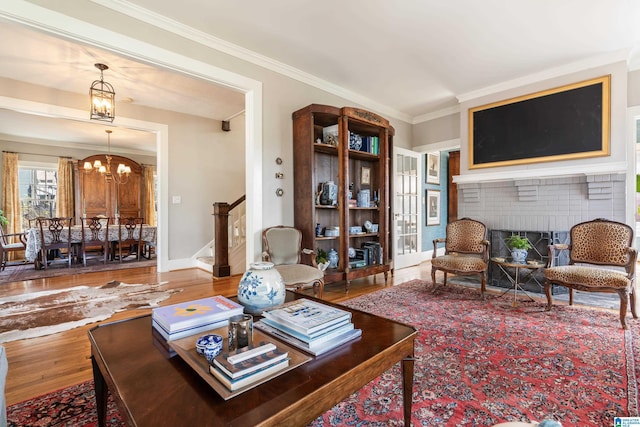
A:
[[[325,283],[344,281],[348,290],[356,278],[383,273],[387,280],[393,132],[388,120],[358,108],[312,104],[293,113],[295,227],[302,231],[303,247],[338,252],[338,267],[325,271]],[[337,185],[335,204],[320,197],[328,181]],[[358,203],[358,194],[367,190],[369,196],[361,195]],[[327,227],[337,227],[339,235]],[[350,233],[351,227],[358,229]]]

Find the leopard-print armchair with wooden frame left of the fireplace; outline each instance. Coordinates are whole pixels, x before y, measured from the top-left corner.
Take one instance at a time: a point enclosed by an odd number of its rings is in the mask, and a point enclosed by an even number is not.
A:
[[[438,244],[444,243],[444,255],[437,256]],[[489,241],[487,227],[480,221],[462,218],[447,224],[447,235],[433,241],[431,258],[431,281],[436,283],[436,271],[460,275],[480,275],[480,293],[484,298],[487,288],[487,267],[489,265]]]

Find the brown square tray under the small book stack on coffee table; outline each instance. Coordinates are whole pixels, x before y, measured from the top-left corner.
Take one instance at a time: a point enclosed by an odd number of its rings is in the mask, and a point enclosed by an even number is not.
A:
[[[213,376],[213,374],[211,374],[209,372],[209,362],[207,361],[207,359],[204,358],[204,356],[198,354],[198,352],[196,351],[196,341],[198,340],[199,337],[201,337],[202,335],[207,335],[207,334],[218,334],[222,337],[226,337],[228,336],[228,331],[227,328],[220,328],[220,329],[214,329],[211,331],[205,331],[196,335],[192,335],[189,337],[185,337],[185,338],[181,338],[175,341],[170,341],[169,345],[175,350],[176,353],[178,353],[178,355],[185,361],[187,362],[187,364],[189,366],[191,366],[197,373],[198,375],[200,375],[210,386],[211,388],[213,388],[216,393],[218,393],[220,395],[220,397],[222,397],[224,400],[229,400],[232,397],[235,397],[241,393],[244,393],[247,390],[250,390],[266,381],[269,381],[272,378],[277,377],[278,375],[284,374],[287,371],[290,371],[293,368],[296,368],[306,362],[308,362],[309,360],[312,359],[311,356],[302,353],[298,350],[296,350],[293,347],[290,347],[280,341],[274,340],[273,337],[263,334],[260,331],[257,331],[255,328],[253,329],[253,342],[260,342],[260,341],[268,341],[271,342],[273,344],[276,345],[276,347],[278,347],[278,349],[282,350],[282,351],[287,351],[289,353],[289,366],[287,366],[286,368],[282,369],[281,371],[278,371],[272,375],[269,375],[265,378],[262,378],[260,380],[257,380],[255,383],[249,384],[245,387],[242,387],[238,390],[235,391],[231,391],[229,390],[224,384],[222,384],[220,381],[218,381],[216,379],[216,377]],[[222,351],[228,351],[228,340],[225,338],[224,342],[223,342],[223,347],[222,347]]]

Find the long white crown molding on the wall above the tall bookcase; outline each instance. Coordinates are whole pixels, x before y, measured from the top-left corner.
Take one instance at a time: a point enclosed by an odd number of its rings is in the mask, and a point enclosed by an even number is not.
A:
[[[355,103],[361,104],[366,108],[378,111],[386,116],[394,117],[398,120],[402,120],[407,123],[412,122],[412,117],[406,113],[403,113],[394,108],[383,105],[377,101],[372,100],[366,96],[352,92],[341,86],[333,84],[327,80],[316,77],[312,74],[304,72],[298,68],[289,66],[280,61],[276,61],[267,56],[261,55],[249,49],[245,49],[236,44],[230,43],[226,40],[212,36],[211,34],[197,30],[195,28],[184,25],[166,16],[152,12],[148,9],[134,5],[125,0],[90,0],[91,2],[100,6],[109,8],[123,15],[127,15],[131,18],[145,22],[149,25],[153,25],[170,33],[176,34],[180,37],[184,37],[188,40],[199,43],[208,48],[217,50],[243,61],[258,65],[262,68],[266,68],[270,71],[274,71],[278,74],[282,74],[291,79],[308,84],[315,88],[324,90],[333,95],[341,98],[349,99]]]

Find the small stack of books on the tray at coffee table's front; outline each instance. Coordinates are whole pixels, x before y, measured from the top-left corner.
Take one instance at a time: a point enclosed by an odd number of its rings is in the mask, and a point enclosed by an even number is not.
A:
[[[289,366],[289,353],[269,342],[224,352],[213,359],[209,372],[231,391],[254,384]]]

